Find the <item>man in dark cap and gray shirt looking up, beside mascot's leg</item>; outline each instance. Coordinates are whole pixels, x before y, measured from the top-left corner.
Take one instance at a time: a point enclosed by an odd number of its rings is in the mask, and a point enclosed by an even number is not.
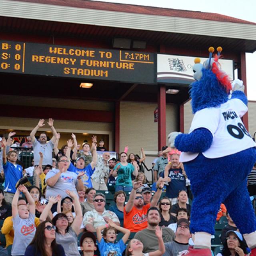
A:
[[[176,238],[173,242],[165,243],[165,253],[163,256],[177,256],[186,255],[188,252],[188,240],[191,237],[190,223],[183,218],[178,220],[176,229]]]

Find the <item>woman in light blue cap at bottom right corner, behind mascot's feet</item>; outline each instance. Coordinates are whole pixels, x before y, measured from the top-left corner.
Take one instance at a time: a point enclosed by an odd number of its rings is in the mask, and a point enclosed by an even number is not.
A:
[[[229,230],[226,233],[226,241],[223,244],[222,252],[217,256],[246,256],[246,244],[238,231]],[[253,254],[252,254],[253,255]]]

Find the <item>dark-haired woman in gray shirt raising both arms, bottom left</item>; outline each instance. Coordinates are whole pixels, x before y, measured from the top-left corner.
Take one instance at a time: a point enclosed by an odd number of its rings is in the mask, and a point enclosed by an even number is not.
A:
[[[80,202],[78,200],[77,194],[70,190],[66,190],[66,194],[72,198],[74,202],[76,217],[71,225],[68,223],[68,217],[64,213],[58,213],[52,219],[52,224],[56,226],[56,242],[61,244],[64,248],[66,256],[80,256],[77,247],[77,236],[80,232],[80,227],[82,224],[82,209]],[[40,220],[46,220],[52,205],[57,202],[58,199],[49,197],[49,203],[42,212]]]

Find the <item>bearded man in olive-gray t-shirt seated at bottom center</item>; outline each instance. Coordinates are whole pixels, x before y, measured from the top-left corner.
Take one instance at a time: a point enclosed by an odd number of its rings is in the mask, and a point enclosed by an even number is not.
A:
[[[161,220],[158,208],[150,207],[147,212],[147,218],[148,227],[137,232],[134,236],[135,239],[138,239],[140,242],[142,242],[144,253],[158,250],[158,238],[155,233],[156,227]],[[171,242],[175,238],[175,234],[170,228],[163,227],[162,234],[164,242]]]

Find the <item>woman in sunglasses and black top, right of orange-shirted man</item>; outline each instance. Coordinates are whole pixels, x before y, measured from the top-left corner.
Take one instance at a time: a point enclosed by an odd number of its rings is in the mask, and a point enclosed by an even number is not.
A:
[[[176,218],[171,214],[171,201],[168,197],[164,196],[159,202],[159,210],[161,221],[159,226],[168,227],[169,224],[175,223]]]

